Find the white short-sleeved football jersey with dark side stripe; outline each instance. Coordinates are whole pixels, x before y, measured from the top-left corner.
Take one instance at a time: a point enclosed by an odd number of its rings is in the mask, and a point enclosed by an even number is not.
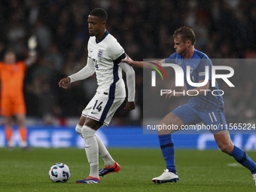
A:
[[[125,97],[122,69],[118,64],[126,55],[117,39],[106,31],[98,42],[95,36],[90,37],[87,48],[88,59],[93,60],[96,72],[97,92],[109,98]]]

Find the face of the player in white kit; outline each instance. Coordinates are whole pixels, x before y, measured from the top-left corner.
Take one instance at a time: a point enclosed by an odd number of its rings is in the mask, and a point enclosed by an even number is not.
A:
[[[98,38],[100,35],[104,34],[106,24],[105,21],[102,21],[99,17],[91,15],[89,15],[87,21],[90,36],[96,36],[96,38]]]

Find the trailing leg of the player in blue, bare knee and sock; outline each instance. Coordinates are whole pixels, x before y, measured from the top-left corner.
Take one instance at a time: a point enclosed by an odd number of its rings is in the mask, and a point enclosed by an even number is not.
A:
[[[245,151],[241,148],[236,147],[233,145],[230,139],[230,134],[227,130],[219,131],[215,133],[215,141],[218,144],[218,147],[226,154],[234,157],[234,159],[240,163],[242,166],[245,166],[247,169],[251,171],[251,174],[256,181],[256,163],[248,157]]]

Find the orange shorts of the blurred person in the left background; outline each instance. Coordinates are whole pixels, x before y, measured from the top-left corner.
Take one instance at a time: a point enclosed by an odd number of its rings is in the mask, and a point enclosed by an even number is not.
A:
[[[0,105],[2,116],[26,114],[26,105],[23,97],[2,97]]]

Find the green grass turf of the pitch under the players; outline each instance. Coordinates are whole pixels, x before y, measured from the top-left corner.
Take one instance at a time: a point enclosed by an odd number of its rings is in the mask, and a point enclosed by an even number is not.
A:
[[[165,168],[160,150],[109,151],[120,163],[120,172],[106,175],[101,184],[76,184],[76,180],[86,178],[89,173],[84,149],[33,148],[32,151],[22,151],[15,148],[8,151],[0,148],[0,191],[256,191],[250,172],[236,166],[233,157],[221,151],[176,150],[180,180],[174,184],[151,181]],[[256,152],[248,152],[248,155],[256,160]],[[50,166],[59,162],[66,163],[71,169],[67,183],[53,183],[48,178]]]

